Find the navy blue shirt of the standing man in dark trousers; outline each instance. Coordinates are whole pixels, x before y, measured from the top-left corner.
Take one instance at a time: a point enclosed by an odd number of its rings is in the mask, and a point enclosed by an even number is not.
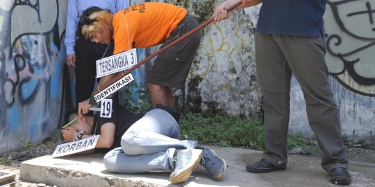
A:
[[[318,37],[324,33],[326,0],[263,0],[257,31],[274,35]]]

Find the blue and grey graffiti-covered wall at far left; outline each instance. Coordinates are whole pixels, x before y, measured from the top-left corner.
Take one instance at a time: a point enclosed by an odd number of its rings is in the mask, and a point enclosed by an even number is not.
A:
[[[63,122],[65,0],[0,3],[0,152],[40,141]]]

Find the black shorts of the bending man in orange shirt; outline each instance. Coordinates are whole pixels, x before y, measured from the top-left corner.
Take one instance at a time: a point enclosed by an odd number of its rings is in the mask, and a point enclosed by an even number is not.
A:
[[[195,17],[186,15],[160,48],[163,48],[198,26],[199,22]],[[202,31],[198,30],[163,53],[160,53],[147,75],[147,82],[159,86],[182,89],[192,66],[194,56],[201,43],[201,37]]]

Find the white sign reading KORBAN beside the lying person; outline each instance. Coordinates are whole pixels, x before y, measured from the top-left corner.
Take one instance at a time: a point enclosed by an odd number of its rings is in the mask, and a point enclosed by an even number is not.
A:
[[[97,145],[98,139],[99,135],[92,136],[88,139],[82,139],[80,141],[73,141],[69,143],[60,144],[56,147],[55,151],[52,154],[52,157],[63,157],[77,152],[92,150],[95,148],[95,145]]]

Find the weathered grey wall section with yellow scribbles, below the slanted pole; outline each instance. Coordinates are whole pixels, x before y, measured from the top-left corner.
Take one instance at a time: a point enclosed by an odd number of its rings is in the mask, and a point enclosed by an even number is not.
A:
[[[203,28],[201,46],[180,100],[184,109],[249,116],[260,108],[254,19],[245,10],[233,12],[229,19]]]

